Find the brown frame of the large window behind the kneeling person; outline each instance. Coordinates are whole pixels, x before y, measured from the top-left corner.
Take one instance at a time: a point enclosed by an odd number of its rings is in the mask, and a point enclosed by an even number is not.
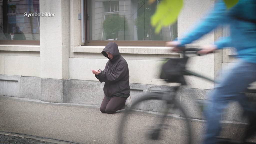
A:
[[[84,33],[85,40],[81,46],[106,46],[109,42],[118,43],[119,46],[165,46],[168,41],[162,40],[88,40],[89,38],[89,9],[87,9],[87,3],[89,0],[84,0]],[[90,4],[89,4],[90,5]],[[105,11],[105,10],[104,10]]]

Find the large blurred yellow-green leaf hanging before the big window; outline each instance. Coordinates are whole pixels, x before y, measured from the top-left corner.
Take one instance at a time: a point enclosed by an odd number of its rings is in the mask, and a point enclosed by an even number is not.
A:
[[[156,27],[155,33],[159,33],[163,26],[175,23],[182,7],[183,0],[162,0],[151,17],[151,25]]]

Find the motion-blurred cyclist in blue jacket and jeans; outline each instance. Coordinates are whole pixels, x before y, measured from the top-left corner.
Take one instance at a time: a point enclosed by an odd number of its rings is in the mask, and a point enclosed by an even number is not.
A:
[[[249,117],[253,125],[255,111],[249,107],[245,95],[242,93],[253,81],[256,81],[256,1],[240,0],[235,6],[227,9],[223,1],[216,3],[211,12],[194,30],[186,37],[175,42],[166,42],[166,46],[174,47],[178,51],[180,47],[199,39],[204,34],[220,24],[230,25],[230,36],[217,41],[214,45],[204,46],[200,54],[208,54],[224,47],[234,47],[237,50],[238,63],[229,70],[211,94],[211,103],[206,109],[206,134],[204,144],[217,143],[221,126],[219,120],[223,109],[230,101],[238,101]],[[251,129],[253,130],[253,129]]]

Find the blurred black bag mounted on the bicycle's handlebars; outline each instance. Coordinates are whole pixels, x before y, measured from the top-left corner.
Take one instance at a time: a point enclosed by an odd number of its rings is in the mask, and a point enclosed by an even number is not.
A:
[[[162,66],[160,78],[167,82],[186,85],[183,75],[188,57],[168,58],[166,60],[168,61]]]

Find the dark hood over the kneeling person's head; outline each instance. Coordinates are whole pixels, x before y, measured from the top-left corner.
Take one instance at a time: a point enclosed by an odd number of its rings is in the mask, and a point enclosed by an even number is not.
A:
[[[118,46],[115,42],[109,42],[101,52],[103,56],[108,58],[108,54],[106,52],[109,52],[110,54],[113,55],[112,60],[115,60],[120,56]],[[108,59],[110,59],[110,58],[108,58]]]

